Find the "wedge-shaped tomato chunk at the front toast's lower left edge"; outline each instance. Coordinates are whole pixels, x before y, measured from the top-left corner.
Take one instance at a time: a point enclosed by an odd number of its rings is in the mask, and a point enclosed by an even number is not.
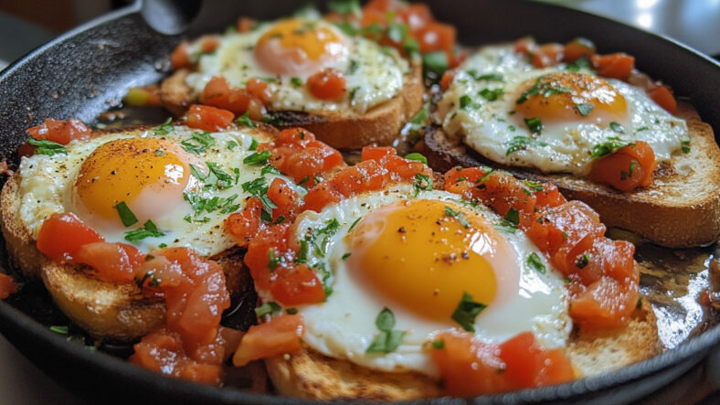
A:
[[[281,315],[268,323],[250,326],[232,359],[236,367],[252,360],[280,356],[300,350],[304,335],[302,315]]]

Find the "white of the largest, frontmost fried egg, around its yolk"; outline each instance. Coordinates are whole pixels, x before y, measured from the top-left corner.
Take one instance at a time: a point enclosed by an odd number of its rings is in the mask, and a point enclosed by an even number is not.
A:
[[[448,322],[421,319],[397,304],[362,288],[355,283],[343,260],[351,252],[346,242],[350,228],[358,218],[363,218],[376,208],[395,201],[414,197],[410,186],[390,187],[382,192],[371,192],[350,197],[328,205],[320,213],[304,212],[296,221],[295,237],[302,240],[308,229],[321,229],[336,219],[340,227],[329,243],[325,257],[319,257],[310,249],[308,263],[324,262],[327,269],[325,285],[332,293],[322,304],[299,305],[303,316],[304,342],[329,357],[348,359],[355,364],[384,371],[416,370],[429,376],[437,376],[437,369],[429,357],[429,342],[444,330],[459,327],[450,318]],[[436,199],[462,204],[458,195],[445,191],[421,191],[417,198]],[[478,207],[481,215],[492,223],[501,218],[486,208]],[[524,331],[532,331],[545,347],[566,346],[572,329],[567,314],[566,288],[562,275],[545,261],[543,255],[527,240],[522,231],[501,232],[516,254],[520,269],[519,285],[514,296],[496,297],[475,320],[475,338],[483,342],[500,343]],[[536,252],[542,258],[547,272],[541,274],[527,263],[527,257]],[[323,278],[323,273],[318,274]],[[408,282],[411,282],[408,280]],[[272,301],[268,293],[260,292],[266,301]],[[387,306],[395,314],[394,329],[406,331],[402,345],[386,355],[368,355],[365,350],[377,335],[376,316]]]

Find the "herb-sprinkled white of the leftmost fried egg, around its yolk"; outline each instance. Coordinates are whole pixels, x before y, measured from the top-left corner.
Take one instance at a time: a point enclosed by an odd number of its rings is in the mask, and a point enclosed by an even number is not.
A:
[[[23,157],[20,162],[19,175],[21,176],[19,194],[20,220],[28,233],[37,238],[42,223],[54,213],[74,212],[78,207],[75,193],[73,192],[75,180],[79,175],[79,169],[85,159],[101,144],[133,137],[155,137],[165,139],[176,144],[189,139],[192,133],[202,132],[200,130],[185,126],[173,126],[172,130],[164,135],[154,134],[152,130],[132,130],[121,133],[108,133],[89,141],[72,141],[66,148],[67,155],[33,155]],[[262,166],[243,165],[242,160],[253,154],[249,151],[253,139],[257,142],[268,142],[268,135],[261,132],[245,129],[241,131],[228,131],[225,133],[211,133],[215,144],[206,149],[205,152],[195,155],[202,162],[213,162],[219,165],[225,172],[230,173],[232,168],[239,168],[238,182],[232,187],[222,190],[203,190],[202,183],[194,176],[191,176],[186,192],[196,193],[199,197],[227,198],[238,195],[233,205],[238,204],[239,210],[246,205],[249,193],[242,190],[241,185],[261,176]],[[228,149],[228,144],[234,142],[238,146],[233,150]],[[234,175],[233,175],[234,176]],[[278,175],[264,175],[270,185]],[[287,180],[295,191],[304,195],[302,187],[295,187],[291,179],[280,176]],[[182,198],[182,197],[180,197]],[[155,204],[164,204],[164,201],[154,201]],[[166,202],[165,202],[166,203]],[[169,210],[158,218],[151,218],[157,228],[164,232],[163,237],[145,238],[132,242],[138,249],[143,251],[155,250],[160,245],[168,247],[184,246],[196,250],[200,255],[211,256],[235,245],[235,241],[225,232],[223,221],[228,218],[229,212],[221,213],[219,209],[207,213],[204,212],[199,218],[207,218],[206,222],[187,222],[185,216],[193,214],[193,209],[186,201],[177,204],[176,209]],[[86,224],[91,226],[111,242],[131,243],[124,239],[125,231],[137,229],[142,224],[137,223],[129,228],[122,226],[105,226],[99,218],[84,218]],[[191,219],[192,220],[192,219]],[[95,227],[93,227],[95,225]]]

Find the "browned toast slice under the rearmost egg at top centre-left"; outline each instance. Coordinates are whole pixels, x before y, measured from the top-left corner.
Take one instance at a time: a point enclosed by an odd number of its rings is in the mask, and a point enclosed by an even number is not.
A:
[[[188,69],[177,70],[163,81],[160,98],[164,107],[180,116],[197,102],[197,97],[186,83]],[[397,138],[403,125],[422,107],[425,88],[422,68],[415,64],[405,75],[405,83],[399,93],[376,105],[362,115],[314,114],[308,112],[272,112],[275,123],[281,128],[302,126],[315,137],[337,149],[359,149],[368,144],[389,145]]]

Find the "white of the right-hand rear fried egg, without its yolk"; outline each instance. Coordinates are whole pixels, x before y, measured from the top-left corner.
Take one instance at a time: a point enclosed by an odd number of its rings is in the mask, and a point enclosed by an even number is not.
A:
[[[446,133],[464,138],[464,142],[490,160],[505,165],[535,167],[545,173],[568,172],[586,176],[592,164],[592,147],[619,137],[625,143],[644,141],[651,145],[657,161],[668,160],[681,150],[688,139],[687,124],[673,117],[646,95],[645,91],[622,80],[606,79],[625,97],[628,119],[619,122],[623,133],[614,131],[609,123],[568,121],[544,123],[542,133],[531,134],[525,123],[513,115],[517,89],[524,81],[547,73],[567,71],[565,64],[537,69],[513,46],[489,46],[478,50],[462,63],[450,87],[438,103],[437,119]],[[500,73],[503,80],[475,80],[486,73]],[[592,73],[581,69],[581,73]],[[478,93],[483,89],[503,89],[495,101],[487,101]],[[460,99],[469,95],[470,107],[461,108]],[[506,154],[515,136],[535,139],[524,150]]]

